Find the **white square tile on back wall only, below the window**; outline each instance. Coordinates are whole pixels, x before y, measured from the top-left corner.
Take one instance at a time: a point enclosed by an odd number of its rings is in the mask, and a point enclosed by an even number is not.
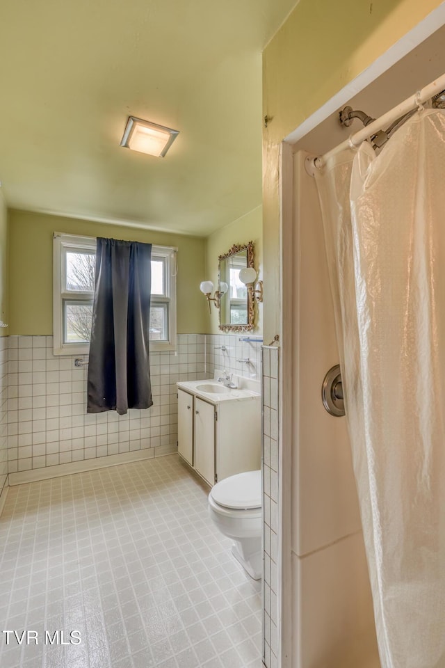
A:
[[[87,415],[87,367],[74,366],[79,356],[54,356],[51,336],[8,339],[10,473],[133,450],[150,450],[148,456],[172,452],[177,447],[176,383],[207,377],[205,336],[180,334],[177,351],[150,355],[151,408]]]

